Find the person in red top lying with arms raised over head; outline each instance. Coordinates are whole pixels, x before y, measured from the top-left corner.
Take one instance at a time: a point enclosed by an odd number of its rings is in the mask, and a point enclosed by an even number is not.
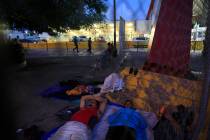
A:
[[[106,103],[106,99],[99,96],[83,96],[80,110],[74,113],[70,121],[60,127],[49,140],[89,140],[91,130],[102,116]]]

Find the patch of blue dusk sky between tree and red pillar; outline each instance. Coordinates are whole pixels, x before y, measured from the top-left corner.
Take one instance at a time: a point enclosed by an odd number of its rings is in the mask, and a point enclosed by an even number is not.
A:
[[[107,0],[107,20],[113,20],[113,0]],[[122,16],[125,20],[145,19],[150,0],[116,0],[117,19]]]

